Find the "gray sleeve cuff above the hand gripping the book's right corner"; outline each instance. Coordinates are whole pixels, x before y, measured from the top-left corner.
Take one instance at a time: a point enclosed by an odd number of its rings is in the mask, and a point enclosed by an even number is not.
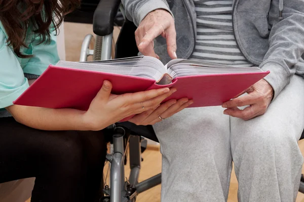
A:
[[[270,71],[264,79],[273,87],[274,97],[273,100],[278,96],[278,94],[283,90],[283,88],[289,83],[290,78],[285,68],[276,62],[263,62],[260,65],[263,71]]]

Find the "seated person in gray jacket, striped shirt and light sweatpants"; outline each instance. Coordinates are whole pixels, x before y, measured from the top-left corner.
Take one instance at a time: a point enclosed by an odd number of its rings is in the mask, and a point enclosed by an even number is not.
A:
[[[304,1],[123,4],[143,55],[271,72],[221,107],[183,110],[155,125],[162,201],[226,201],[232,162],[239,201],[295,201],[303,163]]]

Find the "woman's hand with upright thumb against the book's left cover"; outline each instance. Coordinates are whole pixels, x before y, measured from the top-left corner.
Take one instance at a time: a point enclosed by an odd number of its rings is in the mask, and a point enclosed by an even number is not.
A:
[[[154,110],[165,98],[176,91],[175,88],[161,88],[113,95],[110,94],[111,89],[111,83],[104,81],[102,88],[92,100],[89,110],[84,113],[84,122],[90,130],[101,130],[131,115]]]

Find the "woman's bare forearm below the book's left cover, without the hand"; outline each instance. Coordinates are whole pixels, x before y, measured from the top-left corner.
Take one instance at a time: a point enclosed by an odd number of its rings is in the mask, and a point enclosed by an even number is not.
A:
[[[13,105],[6,108],[15,120],[40,130],[91,130],[84,119],[84,111],[47,109]],[[105,126],[106,127],[106,126]]]

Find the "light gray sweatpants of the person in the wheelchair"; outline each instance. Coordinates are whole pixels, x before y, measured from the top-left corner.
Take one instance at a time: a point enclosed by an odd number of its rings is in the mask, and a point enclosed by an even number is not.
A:
[[[303,158],[304,79],[293,76],[268,111],[249,121],[221,107],[192,108],[155,125],[162,202],[226,201],[232,161],[240,202],[295,201]]]

